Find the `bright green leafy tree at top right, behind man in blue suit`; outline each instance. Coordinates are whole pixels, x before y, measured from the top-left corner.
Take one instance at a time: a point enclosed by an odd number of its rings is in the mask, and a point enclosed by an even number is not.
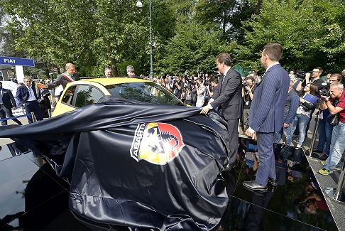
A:
[[[263,0],[261,14],[244,23],[246,41],[237,51],[241,63],[260,69],[263,46],[278,42],[285,47],[285,68],[339,72],[345,61],[344,12],[341,1]]]

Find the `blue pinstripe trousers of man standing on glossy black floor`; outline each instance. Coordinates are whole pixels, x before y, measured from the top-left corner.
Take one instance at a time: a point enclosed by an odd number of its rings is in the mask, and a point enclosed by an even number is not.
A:
[[[259,165],[256,171],[257,183],[267,185],[268,177],[275,179],[275,159],[273,154],[273,137],[274,132],[256,132],[258,141]]]

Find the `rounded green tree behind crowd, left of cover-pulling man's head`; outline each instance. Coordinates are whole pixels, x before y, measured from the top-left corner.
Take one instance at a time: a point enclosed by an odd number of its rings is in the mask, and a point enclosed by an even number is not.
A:
[[[186,69],[197,72],[213,72],[215,57],[229,52],[231,47],[221,41],[221,31],[205,28],[199,23],[186,23],[177,28],[174,36],[165,46],[164,56],[159,60],[161,72],[179,73]]]

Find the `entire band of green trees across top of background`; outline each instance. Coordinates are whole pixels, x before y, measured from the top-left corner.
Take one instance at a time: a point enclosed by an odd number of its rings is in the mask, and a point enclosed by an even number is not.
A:
[[[148,0],[0,0],[1,55],[33,58],[47,75],[74,62],[84,76],[106,67],[126,75],[150,70]],[[228,51],[234,63],[262,70],[263,46],[284,45],[285,68],[345,63],[345,4],[341,0],[151,0],[155,73],[213,72]]]

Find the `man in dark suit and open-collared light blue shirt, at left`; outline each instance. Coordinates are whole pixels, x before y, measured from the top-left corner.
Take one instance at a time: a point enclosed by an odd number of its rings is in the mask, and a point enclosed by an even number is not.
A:
[[[26,113],[33,112],[37,120],[43,120],[43,114],[37,101],[35,85],[31,77],[24,77],[24,84],[17,88],[17,98],[24,104]],[[28,122],[31,124],[33,119],[28,117]]]

